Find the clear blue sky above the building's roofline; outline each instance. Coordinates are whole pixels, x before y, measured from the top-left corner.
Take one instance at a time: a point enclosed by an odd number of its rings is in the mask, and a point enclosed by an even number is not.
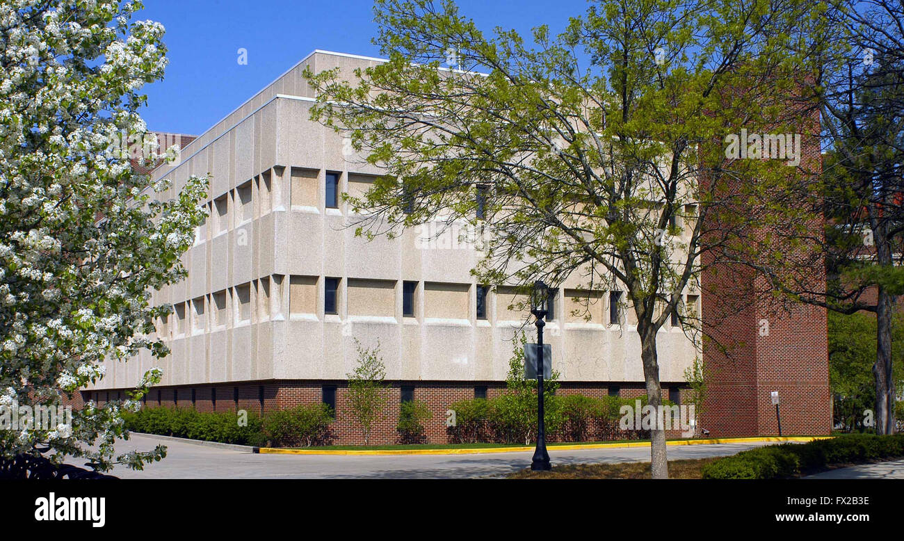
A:
[[[560,31],[587,0],[459,0],[485,32]],[[145,87],[148,128],[198,135],[315,49],[376,56],[372,0],[145,0],[137,16],[166,27],[169,65]],[[237,51],[248,50],[240,65]]]

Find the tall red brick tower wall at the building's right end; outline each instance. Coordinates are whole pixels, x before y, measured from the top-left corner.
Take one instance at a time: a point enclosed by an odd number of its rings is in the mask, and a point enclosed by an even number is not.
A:
[[[818,116],[804,117],[802,124],[798,128],[803,132],[801,167],[818,173],[822,169],[815,137]],[[809,229],[818,235],[823,227],[818,220]],[[745,231],[753,242],[777,233],[777,229]],[[718,257],[710,252],[702,256],[702,319],[708,335],[702,358],[709,394],[702,428],[712,436],[775,435],[777,420],[770,392],[778,391],[785,435],[829,433],[831,394],[824,308],[780,305],[770,299],[765,280]],[[789,269],[797,273],[800,283],[805,282],[812,291],[824,290],[824,261],[818,252],[788,244],[783,258],[792,262]],[[764,322],[767,334],[760,332]]]

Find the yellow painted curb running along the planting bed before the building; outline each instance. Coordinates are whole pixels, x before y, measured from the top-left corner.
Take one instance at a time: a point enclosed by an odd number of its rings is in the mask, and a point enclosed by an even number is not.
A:
[[[666,445],[708,445],[712,443],[754,443],[767,441],[814,441],[824,440],[831,436],[766,436],[754,438],[711,438],[709,440],[673,440],[666,441]],[[649,441],[625,441],[620,443],[592,443],[550,445],[547,451],[581,451],[590,449],[619,449],[627,447],[649,447]],[[483,454],[492,452],[524,452],[533,451],[532,446],[524,447],[485,447],[471,449],[367,449],[367,450],[341,450],[341,449],[278,449],[273,447],[261,447],[261,454],[296,454],[296,455],[442,455],[442,454]]]

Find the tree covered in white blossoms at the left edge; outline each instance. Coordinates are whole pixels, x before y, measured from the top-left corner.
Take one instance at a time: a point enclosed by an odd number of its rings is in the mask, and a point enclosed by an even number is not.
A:
[[[184,276],[181,255],[203,220],[206,178],[163,200],[111,142],[141,137],[138,90],[163,77],[164,28],[133,21],[140,2],[0,3],[0,404],[51,406],[104,375],[105,359],[168,353],[150,291]],[[160,155],[153,149],[149,159]],[[89,402],[71,425],[0,431],[0,460],[36,454],[140,469],[165,448],[117,455],[122,402]]]

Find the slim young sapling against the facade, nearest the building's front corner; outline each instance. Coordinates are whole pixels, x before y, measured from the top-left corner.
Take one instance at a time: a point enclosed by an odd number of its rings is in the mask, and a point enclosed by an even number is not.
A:
[[[389,397],[386,378],[386,365],[380,356],[380,342],[373,348],[364,347],[357,338],[354,345],[358,352],[358,364],[348,378],[349,411],[354,422],[361,427],[364,445],[371,440],[373,426],[380,422],[383,409]]]

